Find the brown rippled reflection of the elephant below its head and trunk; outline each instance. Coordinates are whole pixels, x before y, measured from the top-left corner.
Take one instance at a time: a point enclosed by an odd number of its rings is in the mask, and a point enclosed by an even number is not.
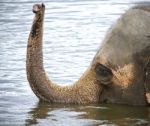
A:
[[[26,125],[148,126],[150,108],[124,105],[66,105],[38,103],[28,113]]]

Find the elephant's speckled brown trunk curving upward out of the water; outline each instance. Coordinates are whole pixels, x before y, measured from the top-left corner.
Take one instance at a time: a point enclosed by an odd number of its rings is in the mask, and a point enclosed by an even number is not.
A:
[[[61,87],[46,76],[43,67],[43,20],[45,6],[34,5],[35,18],[29,34],[27,46],[27,79],[36,96],[43,101],[58,103],[97,103],[101,86],[94,71],[89,68],[73,85]]]

